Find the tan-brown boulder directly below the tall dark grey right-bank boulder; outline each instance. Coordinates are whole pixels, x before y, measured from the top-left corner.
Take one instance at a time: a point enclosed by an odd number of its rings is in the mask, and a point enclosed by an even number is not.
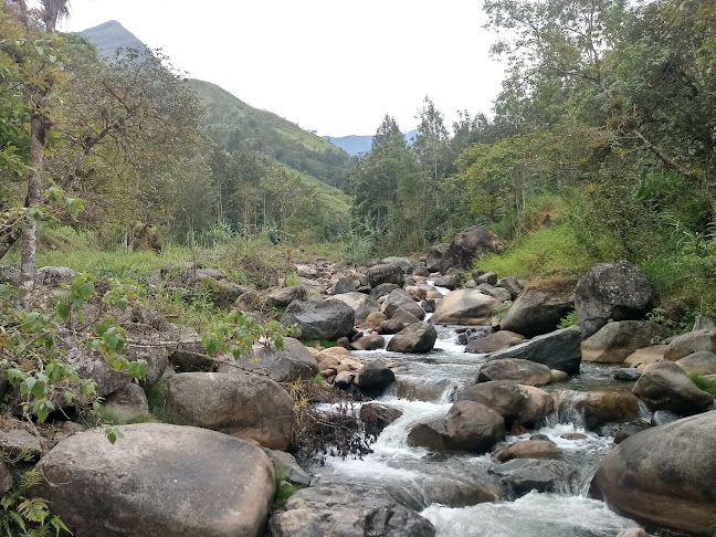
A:
[[[582,360],[622,364],[634,351],[668,335],[668,329],[651,320],[607,323],[582,341]]]

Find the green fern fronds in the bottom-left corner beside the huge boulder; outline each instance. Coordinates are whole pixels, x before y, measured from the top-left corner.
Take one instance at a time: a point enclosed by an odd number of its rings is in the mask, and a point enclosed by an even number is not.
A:
[[[41,497],[28,497],[30,489],[42,483],[36,470],[22,474],[13,487],[2,496],[0,531],[3,537],[45,537],[71,535],[62,519],[50,512],[50,503]]]

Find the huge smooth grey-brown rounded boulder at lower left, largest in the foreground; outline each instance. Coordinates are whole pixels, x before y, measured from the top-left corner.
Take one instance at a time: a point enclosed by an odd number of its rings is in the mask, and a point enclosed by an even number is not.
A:
[[[215,431],[143,423],[114,445],[97,429],[46,454],[33,488],[76,537],[260,537],[275,485],[257,446]]]

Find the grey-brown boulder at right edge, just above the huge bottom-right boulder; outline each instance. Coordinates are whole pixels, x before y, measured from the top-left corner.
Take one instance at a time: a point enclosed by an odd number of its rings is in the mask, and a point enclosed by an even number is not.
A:
[[[671,410],[681,415],[705,412],[714,406],[714,396],[701,389],[672,361],[652,364],[634,385],[633,392],[650,410]]]

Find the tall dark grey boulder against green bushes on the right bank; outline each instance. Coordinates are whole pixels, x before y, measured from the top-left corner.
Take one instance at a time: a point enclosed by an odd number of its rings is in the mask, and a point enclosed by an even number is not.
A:
[[[659,304],[651,278],[628,261],[594,265],[575,289],[577,324],[585,337],[597,333],[609,319],[643,319]]]

